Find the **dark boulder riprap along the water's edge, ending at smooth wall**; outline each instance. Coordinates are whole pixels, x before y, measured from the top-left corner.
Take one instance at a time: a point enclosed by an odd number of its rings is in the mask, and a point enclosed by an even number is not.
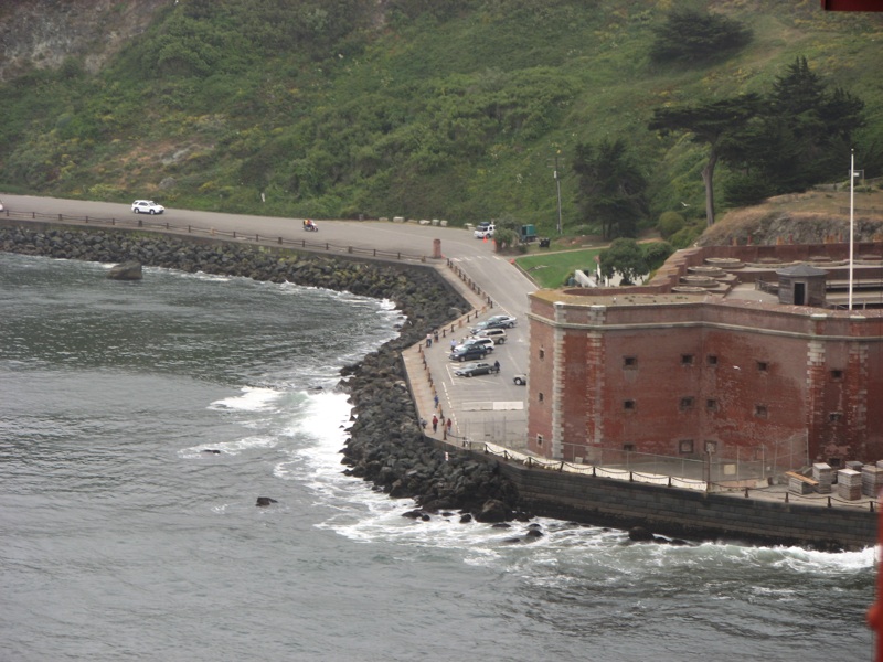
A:
[[[408,516],[461,521],[525,520],[518,490],[497,461],[447,452],[424,437],[405,383],[401,352],[468,309],[462,297],[430,268],[360,261],[254,245],[127,231],[0,227],[7,253],[100,263],[135,260],[181,271],[347,290],[395,302],[407,322],[400,335],[342,371],[340,386],[353,407],[342,450],[345,473],[372,482],[392,498],[413,498]]]

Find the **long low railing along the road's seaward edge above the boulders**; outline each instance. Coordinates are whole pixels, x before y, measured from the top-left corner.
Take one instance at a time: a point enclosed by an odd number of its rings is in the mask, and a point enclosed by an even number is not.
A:
[[[213,227],[199,227],[195,225],[173,225],[172,223],[163,223],[146,220],[143,216],[138,218],[123,220],[123,218],[103,218],[100,216],[71,216],[67,214],[43,214],[40,212],[11,212],[6,210],[2,215],[7,218],[15,218],[20,221],[40,221],[43,223],[60,223],[62,225],[92,225],[96,227],[121,227],[129,229],[147,229],[159,231],[175,234],[198,234],[206,237],[219,239],[233,239],[240,242],[254,242],[255,244],[275,244],[277,246],[288,248],[300,248],[304,250],[321,252],[321,253],[341,253],[353,256],[374,257],[377,259],[389,260],[409,260],[425,263],[428,258],[425,255],[411,255],[402,252],[379,250],[376,248],[360,248],[358,246],[347,246],[340,244],[332,244],[330,242],[308,242],[307,239],[292,239],[283,236],[267,236],[257,233],[247,232],[224,232]]]

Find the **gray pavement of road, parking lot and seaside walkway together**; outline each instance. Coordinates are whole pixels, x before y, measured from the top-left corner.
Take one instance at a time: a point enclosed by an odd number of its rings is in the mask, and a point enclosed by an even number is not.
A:
[[[476,239],[471,232],[417,223],[380,221],[317,221],[318,233],[305,233],[301,218],[247,216],[168,209],[161,216],[136,216],[130,204],[83,202],[52,197],[3,195],[3,204],[13,217],[33,214],[121,220],[131,223],[167,222],[213,228],[219,233],[237,233],[246,237],[285,237],[310,243],[328,242],[354,248],[377,248],[426,256],[426,263],[438,269],[472,306],[462,318],[439,329],[439,342],[425,343],[405,352],[418,413],[427,421],[433,415],[451,419],[451,437],[457,444],[490,442],[513,449],[526,447],[526,388],[512,382],[515,373],[528,367],[528,295],[536,289],[530,278],[514,267],[510,258],[499,256],[492,242]],[[161,202],[161,201],[160,201]],[[433,258],[435,242],[440,242],[442,258]],[[263,242],[262,242],[263,243]],[[272,243],[272,242],[268,242]],[[339,254],[338,254],[339,255]],[[480,284],[478,286],[477,284]],[[519,324],[507,331],[507,342],[497,345],[488,356],[500,362],[498,375],[457,377],[459,365],[448,359],[451,339],[460,340],[469,327],[492,314],[514,316]],[[436,405],[435,398],[438,397]],[[427,425],[432,434],[432,425]],[[439,425],[436,436],[445,436]]]

